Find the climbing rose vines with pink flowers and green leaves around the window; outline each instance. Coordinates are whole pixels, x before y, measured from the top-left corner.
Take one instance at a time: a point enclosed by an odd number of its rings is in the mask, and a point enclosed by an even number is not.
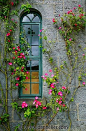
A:
[[[67,12],[67,14],[64,14],[64,17],[61,17],[61,22],[58,23],[56,19],[53,19],[53,23],[57,24],[59,26],[59,32],[63,36],[65,40],[65,47],[67,50],[67,55],[70,61],[69,68],[66,61],[64,61],[63,65],[60,65],[60,67],[52,68],[49,70],[49,73],[46,72],[42,78],[44,81],[46,81],[50,95],[50,102],[46,105],[43,105],[42,101],[38,97],[35,97],[35,100],[33,101],[34,106],[29,106],[25,101],[22,102],[22,105],[19,106],[17,102],[13,100],[12,92],[14,90],[18,90],[21,87],[25,88],[23,86],[23,82],[28,77],[28,71],[25,68],[26,65],[26,55],[27,55],[27,48],[30,47],[29,43],[25,41],[24,38],[22,38],[20,34],[20,43],[14,42],[14,32],[17,28],[17,22],[14,19],[11,19],[12,15],[17,15],[19,10],[12,10],[12,8],[17,6],[19,4],[18,0],[15,0],[12,2],[11,0],[8,1],[2,1],[0,0],[0,6],[1,6],[1,12],[0,12],[0,19],[2,22],[4,22],[4,30],[5,30],[5,36],[4,36],[4,59],[0,60],[0,72],[2,72],[5,75],[5,93],[4,89],[0,83],[0,92],[2,94],[2,99],[0,99],[0,103],[3,105],[3,111],[0,116],[0,126],[2,129],[6,131],[11,131],[10,127],[10,121],[9,121],[9,114],[8,114],[8,93],[10,93],[11,99],[12,99],[12,107],[16,110],[16,113],[18,114],[20,120],[22,121],[22,131],[28,130],[30,126],[35,127],[38,121],[40,119],[44,118],[43,116],[47,115],[48,112],[53,112],[53,116],[51,116],[51,119],[48,121],[46,126],[50,124],[50,122],[54,119],[54,117],[57,115],[57,113],[60,111],[70,111],[70,103],[74,100],[74,95],[78,88],[81,85],[85,85],[84,76],[85,76],[85,70],[83,71],[83,67],[86,64],[86,54],[85,54],[85,48],[83,49],[83,54],[81,56],[80,64],[77,66],[78,63],[78,50],[76,48],[76,41],[75,41],[75,35],[80,30],[84,29],[86,19],[85,19],[85,12],[83,12],[83,9],[81,5],[78,5],[78,8],[75,8],[73,10],[70,10]],[[23,4],[21,5],[22,10],[29,11],[29,8],[31,8],[30,4]],[[74,11],[74,12],[73,12]],[[60,15],[59,15],[60,17]],[[41,38],[41,36],[40,36]],[[44,36],[45,42],[47,41],[47,36]],[[52,43],[52,41],[51,41]],[[20,48],[20,44],[22,45]],[[49,44],[49,43],[48,43]],[[80,46],[79,46],[80,47]],[[72,49],[74,49],[75,55],[72,52]],[[52,66],[53,59],[50,55],[50,52],[47,51],[47,49],[43,49],[44,53],[47,53],[49,55],[49,61]],[[74,59],[75,58],[75,59]],[[74,59],[74,60],[73,60]],[[72,80],[74,79],[73,72],[75,72],[75,69],[79,70],[78,75],[78,86],[75,88],[71,99],[68,101],[68,104],[66,103],[66,98],[69,95],[69,87],[72,83]],[[65,71],[66,70],[66,71]],[[10,79],[9,79],[10,78]],[[65,79],[64,79],[65,78]],[[9,80],[10,80],[10,87],[9,87]],[[63,82],[61,82],[63,81]],[[52,110],[51,110],[52,109]],[[4,113],[5,110],[5,113]],[[21,113],[24,114],[23,119],[21,117]],[[34,119],[36,120],[34,122]],[[68,131],[70,131],[71,127],[71,118],[70,119],[70,126]],[[15,131],[19,128],[20,125],[15,127]],[[33,129],[34,130],[34,129]],[[44,129],[42,129],[43,131]]]

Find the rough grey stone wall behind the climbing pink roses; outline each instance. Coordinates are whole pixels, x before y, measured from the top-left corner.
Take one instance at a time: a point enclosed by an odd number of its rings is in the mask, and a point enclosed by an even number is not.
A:
[[[66,13],[68,10],[72,9],[73,7],[77,7],[78,4],[81,4],[85,10],[85,0],[27,0],[31,5],[32,8],[37,9],[42,14],[42,28],[46,30],[46,35],[48,35],[48,40],[55,41],[52,47],[52,53],[51,56],[53,57],[54,61],[57,63],[58,67],[64,62],[67,61],[67,55],[66,55],[66,49],[65,49],[65,42],[61,35],[59,34],[57,28],[52,23],[52,19],[54,17],[59,19],[59,14],[62,16],[64,13]],[[25,3],[27,2],[24,1]],[[20,3],[21,4],[21,3]],[[20,5],[18,6],[20,8]],[[21,14],[21,12],[20,12]],[[19,18],[15,18],[17,22],[19,23]],[[19,28],[19,26],[18,26]],[[2,33],[3,34],[3,33]],[[19,41],[19,29],[16,31],[16,42]],[[80,37],[80,34],[79,34]],[[77,38],[79,38],[77,37]],[[3,41],[3,38],[1,38]],[[85,47],[84,43],[85,36],[82,34],[80,37],[80,43],[82,43],[83,47]],[[43,41],[43,44],[44,41]],[[2,49],[0,49],[2,51]],[[49,69],[51,69],[51,65],[49,61],[46,58],[46,55],[43,54],[43,74],[45,74]],[[3,87],[5,86],[5,78],[4,75],[0,73],[0,79],[1,84]],[[73,92],[74,87],[77,85],[76,76],[74,77],[72,86],[70,87],[71,92]],[[1,95],[1,94],[0,94]],[[1,96],[2,97],[2,96]],[[18,101],[18,91],[13,92],[13,97],[15,100]],[[48,88],[46,83],[43,83],[43,97],[48,98]],[[70,96],[69,96],[70,97]],[[76,92],[76,95],[74,97],[74,102],[70,105],[70,116],[72,120],[72,129],[71,131],[85,131],[86,130],[86,87],[81,87]],[[21,100],[22,101],[22,100]],[[19,102],[21,104],[21,101]],[[27,100],[27,102],[30,102],[31,100]],[[9,96],[9,114],[10,114],[10,121],[11,121],[11,127],[12,131],[14,131],[14,127],[19,123],[21,124],[21,121],[19,120],[19,117],[16,115],[16,112],[12,107],[11,104],[11,98]],[[29,103],[28,102],[28,103]],[[2,105],[0,105],[0,112],[2,111]],[[49,116],[49,115],[48,115]],[[44,121],[40,121],[38,125],[42,126]],[[45,131],[67,131],[67,128],[69,127],[69,119],[68,119],[68,113],[62,112],[58,113],[54,120],[49,125],[49,128],[47,128]],[[39,130],[41,127],[39,127],[37,130]],[[21,131],[21,127],[19,129]],[[2,131],[0,129],[0,131]]]

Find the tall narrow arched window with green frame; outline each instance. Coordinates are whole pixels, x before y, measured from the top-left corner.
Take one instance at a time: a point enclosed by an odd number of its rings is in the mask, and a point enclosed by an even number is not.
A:
[[[26,69],[29,71],[28,78],[24,82],[24,88],[19,92],[20,98],[42,97],[42,49],[40,48],[42,29],[42,17],[38,11],[24,13],[20,18],[20,27],[25,32],[25,39],[30,45],[29,60]]]

